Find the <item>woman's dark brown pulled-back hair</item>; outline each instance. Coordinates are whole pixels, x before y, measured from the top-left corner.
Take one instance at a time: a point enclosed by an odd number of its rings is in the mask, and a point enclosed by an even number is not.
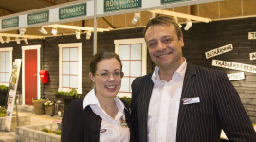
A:
[[[115,58],[117,59],[119,62],[120,62],[120,69],[122,69],[122,64],[121,64],[121,61],[120,61],[120,58],[119,58],[119,55],[114,53],[114,52],[107,52],[107,51],[101,51],[101,52],[98,52],[96,53],[92,59],[91,59],[91,62],[90,62],[90,72],[95,75],[95,72],[97,70],[97,64],[99,62],[101,62],[102,60],[105,60],[105,59],[112,59],[112,58]]]

